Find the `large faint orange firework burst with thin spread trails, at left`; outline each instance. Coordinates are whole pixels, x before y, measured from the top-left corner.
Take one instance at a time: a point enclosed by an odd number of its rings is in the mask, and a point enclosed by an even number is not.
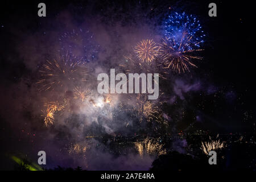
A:
[[[39,90],[67,90],[75,81],[86,81],[88,71],[85,63],[76,57],[65,56],[53,61],[47,60],[43,68],[39,70],[40,78],[36,84]]]

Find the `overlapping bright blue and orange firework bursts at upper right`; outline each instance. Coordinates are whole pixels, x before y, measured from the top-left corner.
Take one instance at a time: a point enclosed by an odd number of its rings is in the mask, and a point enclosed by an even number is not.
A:
[[[189,71],[196,67],[193,59],[203,59],[196,52],[203,51],[200,44],[204,42],[204,31],[195,16],[185,13],[168,16],[165,24],[165,35],[160,43],[159,55],[163,59],[164,68],[174,72]]]

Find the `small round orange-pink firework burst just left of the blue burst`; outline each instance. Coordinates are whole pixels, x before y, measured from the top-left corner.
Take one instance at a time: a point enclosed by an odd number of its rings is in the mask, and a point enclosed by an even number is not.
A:
[[[147,63],[150,63],[158,56],[158,50],[159,47],[152,39],[143,39],[134,47],[134,51],[137,53],[139,60]]]

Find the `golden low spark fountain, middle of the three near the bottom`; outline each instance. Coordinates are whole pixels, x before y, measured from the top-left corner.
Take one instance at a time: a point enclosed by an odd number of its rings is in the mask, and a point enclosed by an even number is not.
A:
[[[163,155],[166,154],[166,149],[163,148],[163,144],[160,144],[160,139],[154,139],[147,137],[142,142],[135,142],[135,149],[139,152],[139,155]]]

